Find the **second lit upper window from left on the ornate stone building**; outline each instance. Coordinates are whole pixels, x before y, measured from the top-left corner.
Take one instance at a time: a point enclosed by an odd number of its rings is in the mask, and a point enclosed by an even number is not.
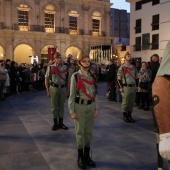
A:
[[[45,13],[45,32],[54,32],[54,14]]]

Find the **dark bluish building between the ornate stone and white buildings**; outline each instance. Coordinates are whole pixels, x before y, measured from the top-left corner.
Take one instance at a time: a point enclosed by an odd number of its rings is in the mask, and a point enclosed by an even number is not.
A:
[[[126,10],[111,8],[111,37],[113,38],[113,55],[123,59],[130,44],[130,14]]]

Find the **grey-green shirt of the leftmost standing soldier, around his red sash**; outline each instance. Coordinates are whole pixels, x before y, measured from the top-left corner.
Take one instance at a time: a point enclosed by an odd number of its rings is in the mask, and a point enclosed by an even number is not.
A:
[[[56,63],[50,65],[47,67],[47,71],[46,71],[46,74],[45,74],[45,77],[48,78],[50,80],[50,82],[53,82],[54,84],[58,84],[58,85],[64,85],[65,82],[66,82],[66,77],[67,77],[67,72],[64,72],[64,73],[61,73],[60,75],[55,71],[55,74],[52,74],[52,69],[53,67],[57,67],[56,66]],[[57,67],[60,71],[64,71],[64,70],[67,70],[67,66],[65,65],[62,65],[60,68]],[[62,79],[62,78],[63,79]],[[68,73],[68,78],[71,77],[71,74]]]

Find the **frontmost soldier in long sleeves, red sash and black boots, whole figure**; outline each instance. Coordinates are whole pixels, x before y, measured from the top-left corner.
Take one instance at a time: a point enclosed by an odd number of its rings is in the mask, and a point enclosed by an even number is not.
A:
[[[79,168],[84,169],[86,165],[96,167],[89,152],[94,118],[98,115],[98,101],[95,78],[88,71],[90,58],[83,54],[79,60],[79,66],[80,70],[71,77],[68,107],[76,129],[77,163]]]

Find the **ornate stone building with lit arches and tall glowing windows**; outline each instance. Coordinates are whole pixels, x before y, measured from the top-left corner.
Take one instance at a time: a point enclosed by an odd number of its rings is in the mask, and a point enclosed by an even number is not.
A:
[[[110,0],[1,0],[0,59],[48,60],[56,48],[65,58],[83,51],[96,61],[111,57]]]

